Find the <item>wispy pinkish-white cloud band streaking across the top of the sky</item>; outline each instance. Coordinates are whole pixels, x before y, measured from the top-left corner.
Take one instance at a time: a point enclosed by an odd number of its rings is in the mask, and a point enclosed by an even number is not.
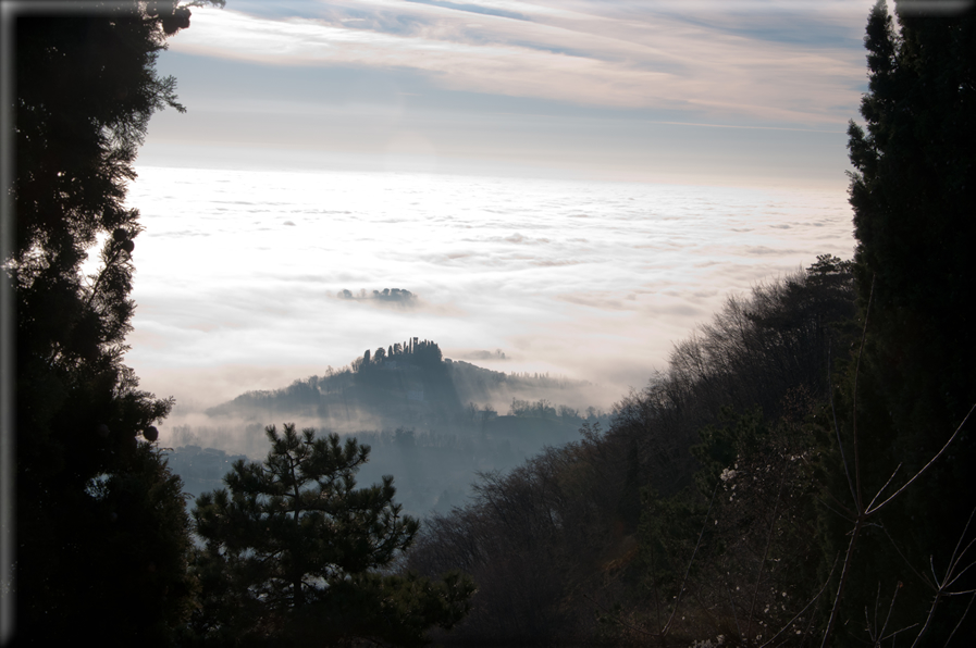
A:
[[[690,110],[709,122],[845,122],[864,82],[867,5],[852,15],[829,2],[751,4],[348,0],[300,17],[197,9],[171,47],[272,65],[410,68],[450,90]]]

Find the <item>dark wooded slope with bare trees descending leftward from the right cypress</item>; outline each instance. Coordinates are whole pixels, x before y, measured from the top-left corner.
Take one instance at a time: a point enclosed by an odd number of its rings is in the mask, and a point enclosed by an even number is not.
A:
[[[585,426],[577,443],[483,475],[474,501],[434,518],[409,557],[478,584],[442,640],[805,634],[814,610],[792,618],[817,582],[824,444],[811,422],[853,308],[850,263],[823,257],[731,299],[605,433]]]

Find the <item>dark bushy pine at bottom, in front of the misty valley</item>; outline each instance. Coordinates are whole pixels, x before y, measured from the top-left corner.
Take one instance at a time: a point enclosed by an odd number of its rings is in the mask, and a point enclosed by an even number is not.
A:
[[[198,641],[422,645],[430,627],[464,616],[472,591],[465,577],[378,571],[410,546],[419,522],[394,503],[393,477],[356,488],[369,446],[334,434],[317,439],[291,424],[267,433],[263,464],[237,461],[227,489],[197,499]]]

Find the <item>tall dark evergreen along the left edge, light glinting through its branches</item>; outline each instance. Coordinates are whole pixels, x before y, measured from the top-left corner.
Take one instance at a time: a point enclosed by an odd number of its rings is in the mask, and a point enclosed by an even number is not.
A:
[[[137,441],[172,403],[123,364],[140,232],[123,200],[150,115],[182,110],[155,63],[189,10],[86,9],[35,3],[14,17],[16,227],[3,262],[16,303],[16,633],[156,645],[190,605],[188,518],[178,479]]]

